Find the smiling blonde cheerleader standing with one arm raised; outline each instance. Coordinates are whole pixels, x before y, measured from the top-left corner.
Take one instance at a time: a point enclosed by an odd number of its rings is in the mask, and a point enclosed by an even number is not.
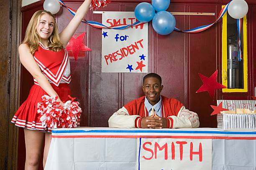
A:
[[[44,162],[51,142],[51,129],[44,128],[38,120],[37,103],[43,95],[58,97],[57,101],[69,100],[70,65],[65,47],[87,13],[91,0],[86,0],[76,15],[59,34],[54,15],[39,10],[32,16],[25,38],[19,46],[22,65],[31,73],[34,83],[28,98],[15,113],[12,122],[24,128],[26,144],[25,170],[37,170],[44,145]],[[43,133],[42,133],[43,132]]]

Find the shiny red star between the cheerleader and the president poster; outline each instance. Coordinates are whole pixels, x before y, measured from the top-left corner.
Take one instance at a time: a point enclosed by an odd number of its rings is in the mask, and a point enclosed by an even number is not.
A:
[[[66,50],[72,51],[75,61],[77,61],[80,51],[92,51],[89,47],[83,44],[85,32],[77,38],[71,37],[67,44]]]

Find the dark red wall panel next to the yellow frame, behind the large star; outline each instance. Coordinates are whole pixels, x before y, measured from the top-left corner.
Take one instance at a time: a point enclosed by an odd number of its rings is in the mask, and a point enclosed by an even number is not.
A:
[[[188,12],[198,12],[204,9],[205,13],[219,13],[216,10],[216,5],[188,5]],[[201,25],[211,24],[215,22],[218,16],[189,16],[188,26],[189,29]],[[211,117],[212,111],[210,104],[215,105],[207,92],[195,93],[202,85],[202,81],[198,76],[201,73],[210,77],[217,69],[218,53],[216,46],[217,42],[217,27],[213,25],[211,28],[196,34],[188,34],[188,100],[189,108],[198,113],[200,117],[200,127],[216,127],[215,117]],[[218,73],[218,75],[220,72]],[[216,93],[215,93],[216,100]]]

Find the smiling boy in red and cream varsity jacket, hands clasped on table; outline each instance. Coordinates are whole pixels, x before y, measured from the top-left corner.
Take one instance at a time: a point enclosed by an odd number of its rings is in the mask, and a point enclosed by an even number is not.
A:
[[[161,77],[155,73],[143,77],[145,96],[128,102],[115,112],[108,120],[109,127],[198,128],[197,113],[185,109],[184,105],[174,98],[160,95],[163,89],[161,82]]]

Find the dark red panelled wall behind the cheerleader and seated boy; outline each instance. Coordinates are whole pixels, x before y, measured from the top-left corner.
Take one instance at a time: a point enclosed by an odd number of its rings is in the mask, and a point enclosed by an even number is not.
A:
[[[67,6],[77,9],[81,0],[64,1]],[[150,0],[112,0],[101,10],[105,11],[134,11],[139,2]],[[226,0],[172,0],[168,11],[172,12],[205,12],[218,16],[221,5]],[[248,92],[222,93],[215,92],[212,101],[207,92],[195,93],[202,85],[198,72],[210,76],[219,70],[218,82],[221,82],[221,22],[210,29],[196,34],[172,32],[170,35],[157,35],[151,22],[148,26],[148,72],[156,72],[163,79],[162,95],[174,97],[184,103],[200,117],[200,127],[216,127],[216,117],[210,116],[216,99],[250,99],[256,84],[256,58],[253,51],[256,47],[256,2],[247,0],[248,11]],[[43,1],[23,7],[23,35],[26,25],[36,10],[42,9]],[[213,23],[217,16],[182,16],[175,15],[176,27],[182,30]],[[89,11],[86,19],[101,23],[100,14]],[[59,31],[68,24],[72,15],[61,7],[56,15]],[[108,118],[125,103],[143,95],[141,88],[145,73],[102,73],[101,72],[101,37],[100,29],[92,28],[82,23],[74,36],[86,31],[84,44],[92,52],[80,52],[77,62],[69,53],[72,82],[72,95],[81,103],[83,114],[81,126],[107,127]],[[254,33],[254,34],[253,34]],[[22,68],[21,102],[26,100],[29,88],[33,84],[32,76]],[[20,130],[18,169],[23,169],[25,161],[23,130]]]

